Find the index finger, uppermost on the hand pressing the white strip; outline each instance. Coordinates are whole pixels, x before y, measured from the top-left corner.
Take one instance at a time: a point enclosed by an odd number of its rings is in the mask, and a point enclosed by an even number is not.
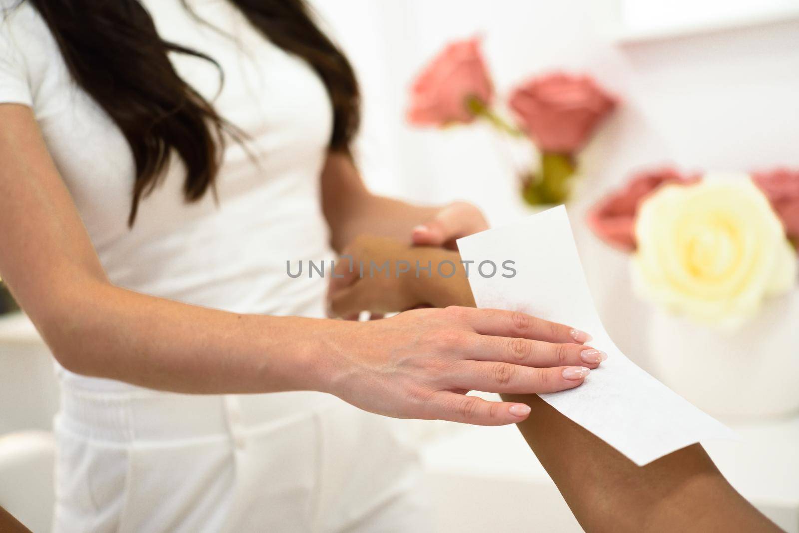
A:
[[[591,336],[571,326],[549,322],[518,311],[497,309],[458,308],[457,312],[482,335],[520,337],[546,342],[576,342],[583,344]]]

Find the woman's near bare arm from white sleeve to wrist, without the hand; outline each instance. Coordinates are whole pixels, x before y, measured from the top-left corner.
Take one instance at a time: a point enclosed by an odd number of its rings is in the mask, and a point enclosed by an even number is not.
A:
[[[113,286],[32,110],[0,105],[0,124],[0,275],[62,365],[191,393],[324,386],[335,355],[328,330],[344,326],[229,314]]]

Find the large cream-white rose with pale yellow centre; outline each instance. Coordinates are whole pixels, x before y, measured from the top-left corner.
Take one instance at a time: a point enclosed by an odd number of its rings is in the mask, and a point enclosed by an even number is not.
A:
[[[737,326],[796,282],[796,253],[745,174],[658,189],[638,211],[635,236],[638,292],[697,322]]]

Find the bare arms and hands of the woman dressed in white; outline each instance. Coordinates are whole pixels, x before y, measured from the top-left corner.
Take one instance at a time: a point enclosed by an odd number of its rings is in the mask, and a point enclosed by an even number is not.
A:
[[[0,105],[0,124],[0,276],[66,369],[181,393],[316,390],[392,417],[491,425],[523,420],[529,409],[465,391],[582,383],[562,374],[579,364],[555,340],[557,333],[567,342],[570,328],[519,314],[427,309],[371,323],[268,317],[114,286],[32,110]],[[321,180],[339,247],[365,228],[443,244],[485,225],[464,204],[415,207],[371,195],[347,156],[331,154]],[[427,230],[414,231],[422,222]],[[539,357],[521,364],[515,353],[527,343]]]

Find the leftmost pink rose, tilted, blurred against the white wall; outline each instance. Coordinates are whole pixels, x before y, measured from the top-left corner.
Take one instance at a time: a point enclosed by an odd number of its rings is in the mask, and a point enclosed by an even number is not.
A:
[[[486,106],[494,98],[479,38],[448,45],[423,70],[411,88],[407,120],[435,126],[471,122],[475,113],[467,105],[470,97]]]

